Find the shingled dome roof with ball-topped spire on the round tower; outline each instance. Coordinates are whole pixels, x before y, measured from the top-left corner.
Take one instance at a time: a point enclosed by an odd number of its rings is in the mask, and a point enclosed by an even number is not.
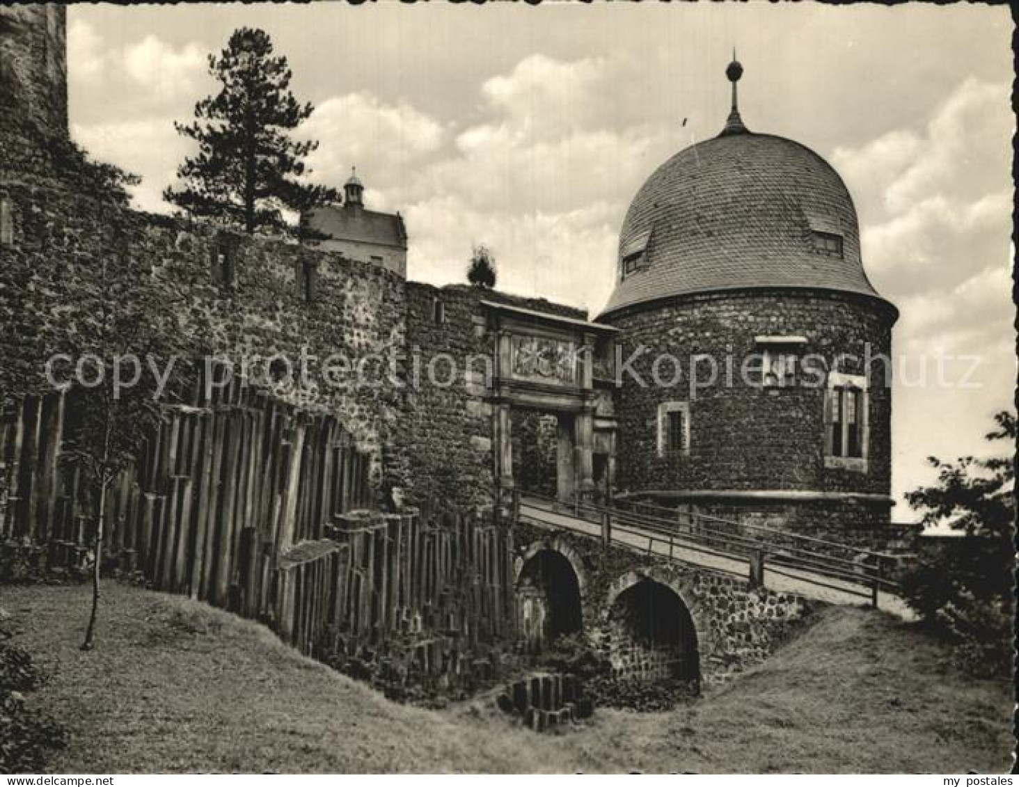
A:
[[[846,184],[809,148],[748,130],[733,109],[718,136],[676,154],[641,186],[620,232],[602,317],[698,292],[817,288],[880,297],[863,270]]]

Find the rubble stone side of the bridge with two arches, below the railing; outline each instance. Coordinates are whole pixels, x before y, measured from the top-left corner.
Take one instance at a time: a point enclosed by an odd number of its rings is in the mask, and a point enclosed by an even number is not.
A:
[[[816,606],[746,578],[521,519],[517,632],[537,654],[582,634],[624,677],[716,683],[771,654]]]

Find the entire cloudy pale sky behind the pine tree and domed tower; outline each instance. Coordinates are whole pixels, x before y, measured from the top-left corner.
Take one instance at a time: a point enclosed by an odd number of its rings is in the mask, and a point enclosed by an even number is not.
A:
[[[896,497],[929,477],[928,454],[982,450],[1011,402],[1005,7],[76,5],[68,24],[72,133],[143,176],[140,207],[166,210],[189,151],[172,121],[213,89],[206,54],[259,26],[316,106],[314,177],[358,166],[370,207],[407,220],[411,278],[463,280],[485,242],[500,287],[593,313],[637,188],[721,128],[736,46],[744,121],[842,173],[867,271],[902,312]]]

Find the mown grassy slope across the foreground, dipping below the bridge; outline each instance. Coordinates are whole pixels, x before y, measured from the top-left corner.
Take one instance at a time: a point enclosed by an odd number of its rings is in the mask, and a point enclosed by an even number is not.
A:
[[[1003,772],[1011,686],[946,666],[945,645],[880,613],[825,612],[761,667],[669,714],[600,710],[561,736],[489,701],[389,702],[260,626],[110,584],[98,648],[86,587],[0,587],[52,678],[30,695],[71,731],[50,772]]]

